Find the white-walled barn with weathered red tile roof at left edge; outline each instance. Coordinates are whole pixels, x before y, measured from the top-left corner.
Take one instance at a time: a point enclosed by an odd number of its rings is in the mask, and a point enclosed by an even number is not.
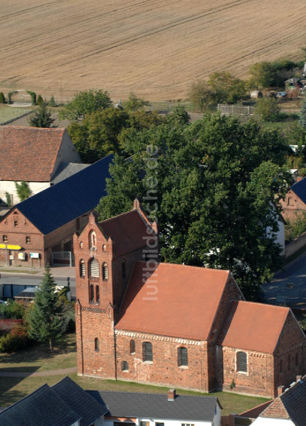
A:
[[[0,144],[0,199],[6,201],[8,193],[11,205],[20,201],[15,181],[28,182],[36,194],[57,183],[67,163],[82,163],[65,129],[0,126]],[[80,164],[74,173],[82,166],[86,167]],[[52,182],[54,178],[57,181]]]

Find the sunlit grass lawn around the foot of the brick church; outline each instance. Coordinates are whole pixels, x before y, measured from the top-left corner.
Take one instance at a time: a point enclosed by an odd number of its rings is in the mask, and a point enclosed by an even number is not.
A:
[[[66,334],[63,342],[54,347],[50,353],[47,345],[36,345],[14,354],[0,354],[0,371],[46,371],[58,370],[76,366],[75,334]],[[63,374],[46,377],[0,377],[0,406],[8,406],[25,397],[44,383],[50,386],[64,377]],[[83,389],[113,390],[130,392],[166,393],[168,388],[125,382],[120,380],[105,380],[94,377],[79,377],[77,373],[69,374],[72,380]],[[207,395],[201,392],[177,390],[178,394]],[[243,412],[255,407],[266,398],[248,397],[229,392],[213,392],[210,396],[219,398],[223,406],[222,414]]]

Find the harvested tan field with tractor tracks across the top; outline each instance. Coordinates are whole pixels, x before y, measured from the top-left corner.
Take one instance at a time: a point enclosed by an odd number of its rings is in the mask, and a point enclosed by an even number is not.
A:
[[[247,77],[257,61],[297,59],[304,0],[2,0],[0,90],[69,100],[103,88],[185,98],[214,71]]]

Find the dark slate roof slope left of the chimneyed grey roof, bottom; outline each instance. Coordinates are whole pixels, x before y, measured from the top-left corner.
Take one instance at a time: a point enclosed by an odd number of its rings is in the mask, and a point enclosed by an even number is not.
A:
[[[97,402],[68,376],[64,377],[51,389],[77,414],[80,415],[81,426],[90,426],[99,419],[108,408]]]

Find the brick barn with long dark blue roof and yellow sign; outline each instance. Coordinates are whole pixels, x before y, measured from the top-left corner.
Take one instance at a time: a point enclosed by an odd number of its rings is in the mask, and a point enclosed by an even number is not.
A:
[[[72,236],[105,195],[112,158],[108,155],[12,207],[0,219],[1,264],[71,264]]]

